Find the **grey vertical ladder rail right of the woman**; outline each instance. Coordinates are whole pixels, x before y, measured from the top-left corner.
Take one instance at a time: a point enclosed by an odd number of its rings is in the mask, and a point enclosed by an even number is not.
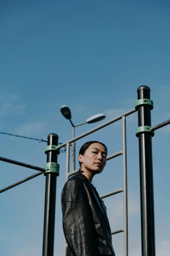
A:
[[[122,138],[123,138],[124,256],[128,256],[127,157],[126,157],[126,117],[125,116],[122,116]]]

